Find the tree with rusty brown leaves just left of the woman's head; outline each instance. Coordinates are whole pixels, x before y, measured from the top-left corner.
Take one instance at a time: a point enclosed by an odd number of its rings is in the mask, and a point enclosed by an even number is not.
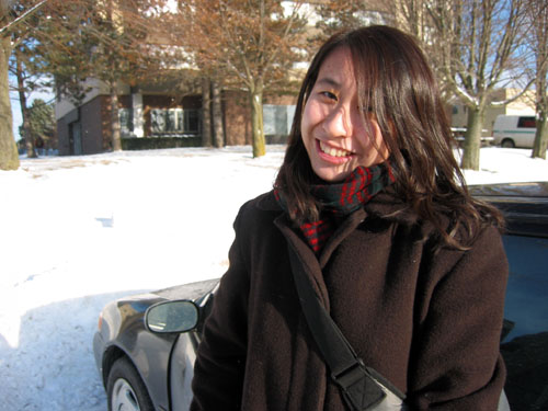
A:
[[[181,46],[193,66],[224,88],[248,94],[252,117],[253,157],[265,153],[262,104],[266,89],[287,81],[306,48],[301,1],[194,0],[165,13],[172,44]],[[214,88],[215,90],[215,88]],[[215,94],[214,94],[215,102]],[[215,107],[215,104],[214,104]],[[214,113],[214,123],[219,118]],[[215,130],[221,129],[217,123]],[[215,146],[221,144],[215,136]]]

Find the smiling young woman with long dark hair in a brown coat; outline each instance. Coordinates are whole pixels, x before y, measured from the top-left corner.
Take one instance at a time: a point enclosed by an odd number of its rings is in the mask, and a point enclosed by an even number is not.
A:
[[[242,206],[206,321],[192,410],[344,410],[287,244],[366,366],[411,410],[496,410],[507,263],[472,199],[411,37],[338,34],[304,80],[275,187]]]

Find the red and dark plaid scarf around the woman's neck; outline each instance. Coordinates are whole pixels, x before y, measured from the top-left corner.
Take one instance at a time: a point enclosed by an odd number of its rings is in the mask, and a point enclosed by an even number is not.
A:
[[[302,224],[300,230],[312,250],[316,253],[321,251],[336,229],[336,218],[358,209],[393,181],[390,165],[385,162],[361,165],[340,183],[311,185],[311,194],[321,204],[321,215],[318,221]],[[275,195],[282,208],[286,209],[282,193],[276,190]]]

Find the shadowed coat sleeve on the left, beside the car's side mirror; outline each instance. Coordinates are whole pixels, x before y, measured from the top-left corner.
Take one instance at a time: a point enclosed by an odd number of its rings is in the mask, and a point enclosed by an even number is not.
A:
[[[240,253],[237,217],[236,239],[229,251],[229,269],[214,297],[204,324],[194,365],[192,411],[239,410],[247,352],[249,275]]]

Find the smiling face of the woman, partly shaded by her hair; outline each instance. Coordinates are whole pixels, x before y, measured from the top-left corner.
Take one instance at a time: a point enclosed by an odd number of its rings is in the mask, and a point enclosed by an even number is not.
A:
[[[367,127],[358,104],[351,53],[339,47],[320,66],[300,123],[310,163],[322,180],[341,181],[358,165],[388,158],[378,123],[365,113]]]

